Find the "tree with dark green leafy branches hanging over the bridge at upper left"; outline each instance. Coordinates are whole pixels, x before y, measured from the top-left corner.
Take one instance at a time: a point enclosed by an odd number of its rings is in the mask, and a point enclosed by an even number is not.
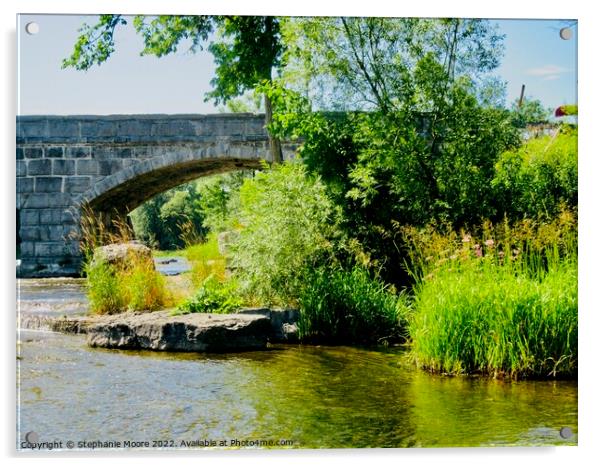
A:
[[[270,81],[274,69],[282,65],[284,50],[280,40],[281,19],[273,16],[135,16],[133,25],[144,40],[141,55],[162,57],[177,50],[183,40],[190,40],[190,50],[201,50],[209,42],[217,68],[213,90],[206,100],[226,103]],[[115,51],[115,29],[127,24],[122,15],[100,15],[98,22],[80,29],[71,56],[63,68],[88,70],[105,62]],[[212,35],[213,34],[213,35]],[[211,40],[210,40],[211,39]],[[264,99],[266,124],[272,118],[270,100]],[[282,161],[280,142],[269,135],[270,153],[276,163]]]

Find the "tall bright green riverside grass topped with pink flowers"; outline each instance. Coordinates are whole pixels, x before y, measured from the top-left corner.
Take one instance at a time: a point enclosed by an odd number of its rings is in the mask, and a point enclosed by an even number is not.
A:
[[[430,249],[417,253],[409,326],[417,364],[450,374],[575,377],[574,217],[564,211],[528,229],[506,222],[482,232],[433,234]]]

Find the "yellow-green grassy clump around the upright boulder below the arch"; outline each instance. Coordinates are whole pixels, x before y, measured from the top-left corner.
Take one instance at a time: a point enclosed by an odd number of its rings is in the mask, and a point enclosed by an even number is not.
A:
[[[133,258],[125,267],[90,261],[85,271],[90,310],[95,314],[153,311],[169,301],[165,279],[148,260]]]

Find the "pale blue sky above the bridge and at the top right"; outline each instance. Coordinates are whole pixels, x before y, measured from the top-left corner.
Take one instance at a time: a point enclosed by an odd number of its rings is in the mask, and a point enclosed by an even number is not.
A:
[[[133,28],[118,30],[116,52],[89,71],[61,69],[82,23],[95,16],[20,15],[18,17],[18,113],[82,115],[135,113],[216,113],[204,94],[211,89],[213,57],[185,49],[157,59],[141,57],[142,40]],[[496,70],[507,82],[508,104],[525,95],[556,108],[577,102],[577,27],[560,38],[556,20],[492,20],[506,35],[505,55]],[[37,34],[25,25],[36,22]]]

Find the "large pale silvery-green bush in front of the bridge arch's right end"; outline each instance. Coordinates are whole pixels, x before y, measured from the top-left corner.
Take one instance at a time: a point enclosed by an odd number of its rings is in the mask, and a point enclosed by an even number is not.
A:
[[[245,180],[232,266],[246,299],[294,305],[307,263],[328,255],[338,210],[319,178],[285,163]]]

